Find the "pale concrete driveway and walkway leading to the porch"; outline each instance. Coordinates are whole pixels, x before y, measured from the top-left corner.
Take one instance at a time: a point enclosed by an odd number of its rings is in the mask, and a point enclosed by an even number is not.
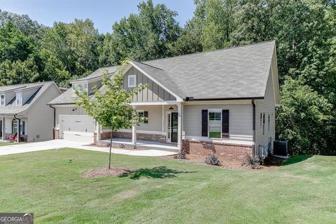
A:
[[[50,141],[41,141],[41,142],[33,142],[27,144],[18,144],[11,146],[0,146],[0,155],[10,155],[16,153],[28,153],[28,152],[36,152],[36,151],[44,151],[54,148],[78,148],[84,149],[88,151],[99,151],[108,153],[108,147],[97,147],[97,146],[88,146],[83,142],[79,141],[71,141],[64,139],[50,140]],[[112,148],[112,153],[115,154],[123,154],[123,155],[139,155],[139,156],[165,156],[165,155],[174,155],[176,152],[165,151],[165,150],[125,150],[119,148]]]

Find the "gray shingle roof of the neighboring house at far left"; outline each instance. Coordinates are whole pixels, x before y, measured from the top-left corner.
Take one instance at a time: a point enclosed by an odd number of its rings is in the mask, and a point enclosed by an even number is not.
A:
[[[30,99],[28,99],[27,102],[25,102],[25,104],[23,104],[22,106],[16,106],[15,97],[14,97],[14,99],[12,99],[6,106],[0,107],[0,114],[24,113],[25,111],[27,111],[27,109],[30,108],[30,106],[34,104],[34,102],[36,102],[36,100],[38,100],[39,97],[41,97],[43,92],[45,92],[45,90],[47,90],[48,87],[50,87],[50,85],[55,85],[55,83],[53,81],[50,81],[50,82],[29,83],[29,84],[20,85],[20,87],[22,88],[18,88],[18,90],[21,90],[21,89],[25,90],[30,87],[38,87],[38,89],[30,97]],[[10,89],[9,87],[13,87],[13,86],[14,85],[1,86],[0,91],[9,90]],[[18,86],[18,85],[15,85],[15,86]]]

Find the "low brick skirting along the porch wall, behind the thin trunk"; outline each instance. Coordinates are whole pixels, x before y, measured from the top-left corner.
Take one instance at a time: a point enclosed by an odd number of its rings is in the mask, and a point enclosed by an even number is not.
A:
[[[101,134],[101,139],[110,139],[111,138],[111,132],[103,132]],[[113,138],[117,139],[132,139],[132,133],[131,132],[113,132]],[[146,140],[146,141],[159,141],[162,143],[166,142],[165,135],[162,134],[143,134],[143,133],[137,133],[137,139],[138,140]]]

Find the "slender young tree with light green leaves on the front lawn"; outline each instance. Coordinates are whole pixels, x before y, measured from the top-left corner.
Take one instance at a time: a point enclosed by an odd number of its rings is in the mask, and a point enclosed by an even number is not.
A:
[[[111,129],[109,169],[111,169],[112,134],[122,128],[131,128],[132,125],[144,121],[144,117],[138,117],[130,103],[133,96],[143,90],[146,85],[138,85],[129,92],[123,89],[123,74],[128,62],[121,64],[116,74],[112,77],[103,73],[103,87],[96,90],[90,97],[83,90],[76,90],[78,106],[83,106],[85,111],[103,127]]]

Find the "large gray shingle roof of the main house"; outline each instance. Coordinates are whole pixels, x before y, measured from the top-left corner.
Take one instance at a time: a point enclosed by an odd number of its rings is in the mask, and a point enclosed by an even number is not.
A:
[[[258,98],[265,94],[274,49],[275,41],[269,41],[132,64],[182,99]],[[118,66],[97,69],[78,80],[102,76],[104,69],[113,73]],[[74,104],[71,90],[49,104]]]

